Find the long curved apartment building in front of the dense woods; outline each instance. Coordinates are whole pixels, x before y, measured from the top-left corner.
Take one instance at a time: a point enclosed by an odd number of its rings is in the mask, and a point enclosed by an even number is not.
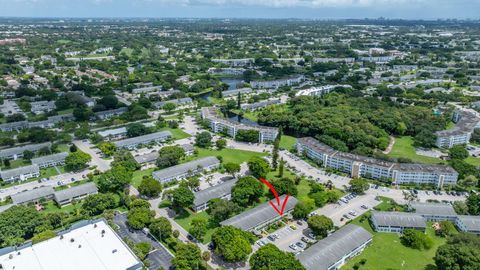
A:
[[[438,188],[454,185],[458,179],[458,173],[447,165],[396,163],[344,153],[311,137],[298,139],[296,147],[299,154],[352,177],[391,180],[394,184],[430,184]]]

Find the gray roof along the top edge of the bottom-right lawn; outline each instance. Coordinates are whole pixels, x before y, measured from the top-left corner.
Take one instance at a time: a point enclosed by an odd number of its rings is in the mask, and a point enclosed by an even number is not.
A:
[[[425,219],[416,213],[372,212],[372,221],[381,227],[426,228]]]

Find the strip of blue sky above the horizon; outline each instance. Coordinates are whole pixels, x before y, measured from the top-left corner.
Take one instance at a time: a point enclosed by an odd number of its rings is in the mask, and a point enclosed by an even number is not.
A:
[[[0,16],[473,18],[480,0],[0,0]]]

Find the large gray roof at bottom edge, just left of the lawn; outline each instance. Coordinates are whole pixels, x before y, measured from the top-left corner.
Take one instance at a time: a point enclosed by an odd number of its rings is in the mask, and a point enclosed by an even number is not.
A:
[[[300,253],[298,260],[307,270],[326,270],[370,239],[367,230],[348,224]]]

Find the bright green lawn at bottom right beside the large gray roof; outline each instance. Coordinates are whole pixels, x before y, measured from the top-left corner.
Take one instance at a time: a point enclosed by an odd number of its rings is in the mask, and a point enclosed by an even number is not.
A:
[[[353,224],[360,225],[373,233],[373,242],[359,256],[349,261],[342,269],[353,269],[355,263],[366,259],[365,265],[360,270],[425,270],[435,269],[433,257],[437,248],[444,244],[446,239],[435,236],[433,229],[428,226],[427,234],[433,239],[434,245],[430,250],[417,250],[405,247],[400,242],[400,236],[395,233],[376,233],[368,224],[368,220],[360,221],[357,218]],[[429,224],[431,225],[431,224]]]

